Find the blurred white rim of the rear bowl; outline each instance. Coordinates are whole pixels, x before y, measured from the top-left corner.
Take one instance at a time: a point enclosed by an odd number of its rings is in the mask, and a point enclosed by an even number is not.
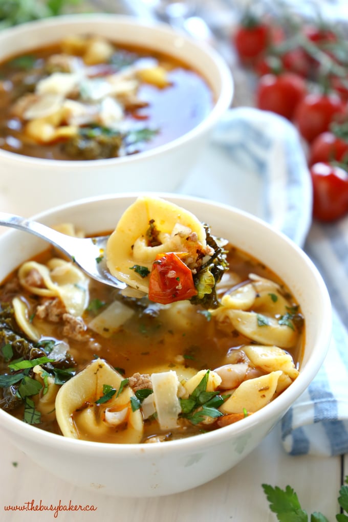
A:
[[[0,45],[3,42],[6,43],[7,38],[13,36],[16,37],[16,35],[26,33],[30,34],[34,31],[38,31],[40,29],[49,27],[64,27],[65,25],[70,24],[82,25],[86,21],[93,21],[93,24],[103,23],[109,25],[111,23],[116,23],[118,25],[124,25],[125,27],[141,27],[145,30],[155,30],[159,34],[164,35],[165,38],[180,38],[185,42],[185,45],[188,45],[191,48],[205,54],[205,56],[209,58],[210,63],[215,65],[221,78],[220,93],[218,94],[218,97],[215,100],[215,103],[212,106],[211,111],[204,118],[204,120],[202,120],[198,125],[196,125],[193,129],[186,132],[182,136],[179,136],[169,141],[168,143],[159,145],[158,147],[155,147],[153,149],[138,152],[135,155],[123,156],[119,158],[106,158],[92,161],[52,160],[48,158],[35,158],[31,156],[20,155],[16,152],[10,152],[7,150],[0,149],[0,160],[6,160],[7,162],[18,162],[19,164],[29,164],[36,168],[58,168],[63,171],[62,174],[64,174],[64,170],[71,167],[74,167],[74,169],[86,169],[87,167],[92,169],[98,168],[100,165],[110,165],[113,163],[115,163],[115,166],[117,167],[118,164],[122,165],[124,163],[134,163],[139,160],[147,160],[148,158],[150,159],[153,156],[163,156],[169,151],[178,149],[179,147],[181,147],[183,143],[194,140],[201,134],[208,132],[209,129],[215,123],[218,122],[222,114],[231,106],[234,96],[234,80],[232,72],[222,55],[211,45],[205,42],[197,42],[194,38],[190,37],[184,31],[179,29],[173,29],[171,26],[161,21],[142,21],[140,18],[136,16],[105,13],[82,13],[60,15],[57,17],[44,18],[41,20],[33,20],[18,26],[6,28],[0,32]],[[149,48],[151,48],[151,45],[149,45]],[[10,55],[10,53],[7,54],[7,56]],[[2,58],[1,61],[3,62],[6,59],[6,57]],[[183,60],[185,61],[185,58],[183,58]],[[205,79],[209,84],[209,78]]]

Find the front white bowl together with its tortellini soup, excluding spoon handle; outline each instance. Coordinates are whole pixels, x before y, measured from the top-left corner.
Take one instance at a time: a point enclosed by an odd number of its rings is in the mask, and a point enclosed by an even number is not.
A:
[[[0,238],[2,427],[32,458],[44,447],[58,476],[123,496],[193,488],[247,455],[318,371],[327,290],[262,221],[153,194],[38,219],[112,232],[101,258],[127,283],[90,281],[29,235]]]

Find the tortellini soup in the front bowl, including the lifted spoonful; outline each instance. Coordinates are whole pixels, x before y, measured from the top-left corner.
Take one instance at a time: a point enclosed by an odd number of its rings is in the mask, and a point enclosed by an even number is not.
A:
[[[289,289],[187,210],[139,197],[106,260],[126,291],[52,250],[4,281],[2,408],[66,437],[164,442],[243,422],[296,379]]]

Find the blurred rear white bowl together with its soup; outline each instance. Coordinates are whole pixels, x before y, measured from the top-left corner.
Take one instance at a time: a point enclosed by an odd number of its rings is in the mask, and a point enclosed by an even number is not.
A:
[[[30,22],[2,31],[0,49],[2,188],[40,185],[42,208],[172,190],[233,96],[217,52],[132,17]]]

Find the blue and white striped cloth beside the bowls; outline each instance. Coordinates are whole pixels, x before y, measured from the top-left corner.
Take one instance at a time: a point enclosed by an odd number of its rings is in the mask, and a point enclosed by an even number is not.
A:
[[[314,381],[281,421],[282,442],[291,455],[348,453],[348,218],[311,222],[310,178],[295,128],[272,113],[232,109],[178,192],[265,219],[318,267],[335,309],[333,339]]]

